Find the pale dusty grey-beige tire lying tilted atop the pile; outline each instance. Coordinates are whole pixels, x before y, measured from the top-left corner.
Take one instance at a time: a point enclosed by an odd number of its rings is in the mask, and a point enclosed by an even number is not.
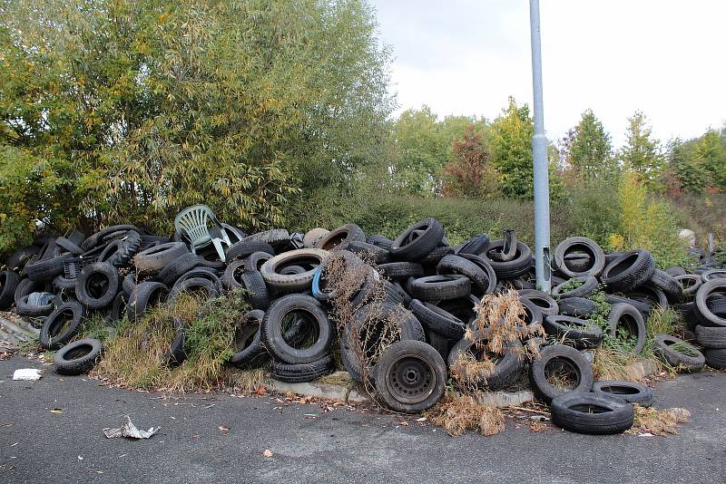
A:
[[[329,252],[319,248],[299,248],[272,257],[260,269],[260,275],[268,286],[279,291],[291,293],[306,291],[312,286],[312,278],[318,267],[329,257]],[[285,266],[306,266],[302,274],[280,274]]]

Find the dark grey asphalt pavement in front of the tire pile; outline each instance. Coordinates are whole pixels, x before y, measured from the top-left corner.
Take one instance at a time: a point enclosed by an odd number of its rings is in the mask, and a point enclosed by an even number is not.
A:
[[[319,405],[215,394],[161,400],[51,367],[14,382],[23,358],[0,362],[0,482],[723,482],[726,373],[663,382],[659,408],[692,423],[670,438],[531,432],[448,437],[433,426]],[[213,404],[213,405],[212,405]],[[63,409],[62,413],[52,412]],[[129,414],[150,440],[108,440]],[[312,414],[312,415],[306,415]],[[314,416],[313,416],[314,415]],[[229,428],[224,435],[220,426]],[[262,456],[264,450],[272,457]]]

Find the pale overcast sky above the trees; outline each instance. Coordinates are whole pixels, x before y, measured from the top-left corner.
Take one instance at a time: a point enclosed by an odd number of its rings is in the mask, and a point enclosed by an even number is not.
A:
[[[532,106],[526,0],[369,0],[394,56],[399,109],[493,119]],[[541,0],[544,126],[592,108],[616,146],[636,109],[662,141],[726,121],[726,0]]]

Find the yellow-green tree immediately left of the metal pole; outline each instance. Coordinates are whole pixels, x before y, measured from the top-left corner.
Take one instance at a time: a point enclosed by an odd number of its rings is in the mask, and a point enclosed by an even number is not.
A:
[[[507,107],[491,125],[492,165],[498,173],[499,189],[507,197],[532,198],[534,132],[529,107],[518,106],[510,97]]]

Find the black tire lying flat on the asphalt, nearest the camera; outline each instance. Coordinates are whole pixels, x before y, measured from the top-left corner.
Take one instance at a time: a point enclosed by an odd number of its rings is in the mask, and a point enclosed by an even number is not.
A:
[[[565,431],[608,435],[633,427],[633,405],[603,393],[559,395],[552,401],[550,411],[554,425]]]

